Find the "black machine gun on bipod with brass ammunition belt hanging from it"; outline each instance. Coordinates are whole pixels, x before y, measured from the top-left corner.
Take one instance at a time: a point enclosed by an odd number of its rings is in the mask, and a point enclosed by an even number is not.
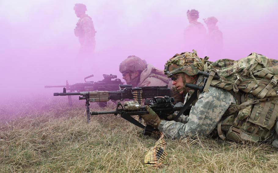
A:
[[[142,86],[132,87],[131,85],[119,85],[123,88],[117,91],[84,91],[79,93],[67,93],[66,88],[63,88],[63,93],[54,93],[54,96],[71,96],[80,95],[79,100],[86,100],[87,121],[90,121],[90,103],[103,102],[108,100],[134,99],[138,103],[142,103],[142,99],[153,98],[155,96],[171,95],[171,89],[168,86]]]

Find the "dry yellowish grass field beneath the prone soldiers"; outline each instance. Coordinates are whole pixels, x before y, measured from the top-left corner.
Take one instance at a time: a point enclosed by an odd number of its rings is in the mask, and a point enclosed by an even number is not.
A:
[[[159,136],[114,115],[86,123],[85,101],[40,98],[0,106],[1,172],[278,172],[278,150],[220,139],[166,139],[161,168],[144,164]],[[91,105],[91,110],[114,110]]]

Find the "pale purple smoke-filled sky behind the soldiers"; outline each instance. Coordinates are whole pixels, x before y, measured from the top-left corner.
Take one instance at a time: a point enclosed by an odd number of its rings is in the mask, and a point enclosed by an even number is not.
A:
[[[76,59],[75,3],[86,4],[97,31],[96,57],[89,62]],[[210,16],[218,19],[223,58],[239,59],[253,51],[274,59],[278,55],[276,0],[0,0],[0,6],[0,89],[6,96],[48,94],[52,91],[44,85],[83,82],[90,74],[94,80],[104,73],[121,78],[119,63],[129,55],[163,69],[176,53],[191,51],[183,47],[188,9],[199,11],[201,23]]]

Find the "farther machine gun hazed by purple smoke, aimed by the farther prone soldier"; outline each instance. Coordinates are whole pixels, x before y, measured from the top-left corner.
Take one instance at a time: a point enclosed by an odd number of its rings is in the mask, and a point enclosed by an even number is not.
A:
[[[93,81],[86,81],[86,79],[93,77],[93,75],[87,76],[84,78],[85,83],[75,83],[73,85],[68,84],[68,80],[66,81],[66,85],[58,85],[58,86],[44,86],[45,88],[60,88],[63,87],[69,92],[82,92],[82,91],[93,91],[93,90],[99,90],[99,91],[114,91],[119,89],[119,85],[123,85],[123,82],[121,79],[116,79],[116,75],[106,75],[103,74],[104,79],[93,82]],[[114,80],[112,80],[114,79]],[[72,106],[71,96],[68,95],[68,103],[70,106]],[[107,105],[107,102],[100,102],[100,107],[105,107]]]

